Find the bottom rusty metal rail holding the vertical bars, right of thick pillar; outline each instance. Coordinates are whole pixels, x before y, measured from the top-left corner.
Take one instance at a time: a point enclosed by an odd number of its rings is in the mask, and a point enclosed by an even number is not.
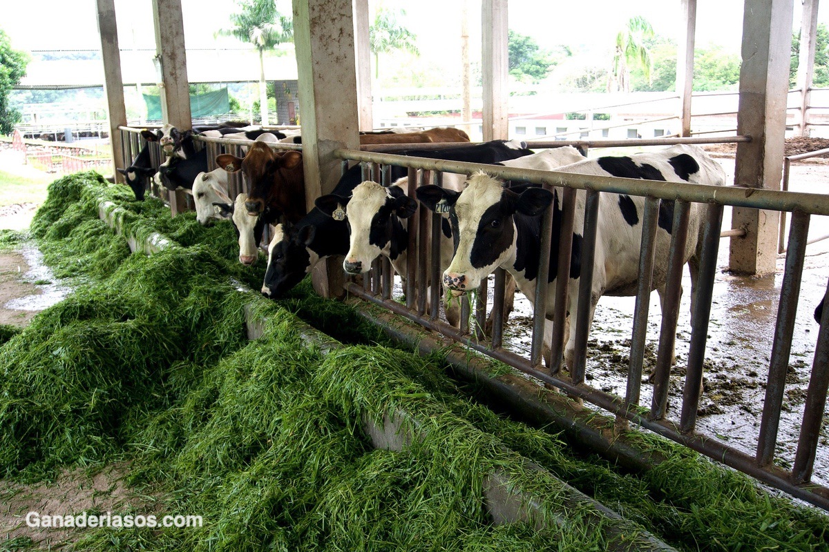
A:
[[[754,462],[754,458],[748,454],[732,449],[731,447],[722,444],[715,439],[711,439],[709,436],[697,434],[696,432],[681,434],[676,425],[670,421],[648,420],[647,417],[640,414],[638,410],[635,410],[635,407],[628,410],[625,407],[623,400],[618,396],[613,396],[609,393],[605,393],[604,391],[599,391],[586,386],[574,386],[564,379],[550,376],[550,374],[535,370],[531,367],[530,362],[528,362],[526,358],[522,358],[516,355],[516,353],[511,353],[510,351],[506,351],[504,349],[489,349],[486,345],[463,336],[457,328],[453,328],[452,326],[439,321],[421,318],[417,314],[407,310],[405,305],[400,305],[400,303],[396,303],[393,300],[381,300],[370,293],[366,293],[365,290],[363,290],[360,286],[356,286],[353,282],[347,282],[345,287],[352,295],[356,295],[357,297],[361,297],[361,299],[381,305],[385,309],[391,310],[396,314],[401,314],[410,320],[414,320],[414,322],[424,326],[424,328],[437,331],[449,338],[453,338],[455,341],[465,344],[469,348],[473,348],[481,353],[487,354],[496,360],[506,362],[512,367],[521,370],[521,372],[525,372],[538,378],[542,382],[559,387],[572,396],[579,397],[584,401],[600,406],[601,408],[604,408],[604,410],[608,410],[611,414],[623,416],[624,418],[633,421],[633,423],[641,425],[646,430],[651,430],[656,434],[666,437],[667,439],[671,439],[676,441],[676,443],[683,444],[690,449],[694,449],[701,454],[705,454],[709,458],[713,458],[721,463],[724,463],[731,468],[747,473],[762,482],[768,483],[773,487],[777,487],[778,489],[788,492],[793,497],[800,498],[806,502],[814,504],[815,506],[820,506],[824,510],[829,510],[829,488],[827,487],[823,487],[815,483],[804,485],[795,484],[790,480],[790,476],[783,469],[776,466],[759,468],[759,466]],[[827,310],[827,313],[829,313],[829,310]],[[827,314],[827,316],[829,316],[829,314]]]

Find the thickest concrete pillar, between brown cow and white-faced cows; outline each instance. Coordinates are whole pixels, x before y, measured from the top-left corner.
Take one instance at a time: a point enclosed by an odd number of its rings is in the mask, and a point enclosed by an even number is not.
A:
[[[308,209],[337,185],[339,148],[359,149],[354,18],[351,0],[293,0],[299,105],[303,114],[303,166]],[[342,295],[338,259],[313,273],[320,295]]]

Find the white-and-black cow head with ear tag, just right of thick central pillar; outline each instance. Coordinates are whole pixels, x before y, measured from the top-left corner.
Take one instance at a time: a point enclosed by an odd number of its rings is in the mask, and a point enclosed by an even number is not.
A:
[[[328,194],[315,204],[328,216],[347,220],[351,247],[342,266],[349,274],[367,272],[381,253],[389,256],[395,224],[399,227],[400,218],[409,218],[417,209],[417,202],[399,185],[384,188],[371,181],[357,185],[351,198]]]

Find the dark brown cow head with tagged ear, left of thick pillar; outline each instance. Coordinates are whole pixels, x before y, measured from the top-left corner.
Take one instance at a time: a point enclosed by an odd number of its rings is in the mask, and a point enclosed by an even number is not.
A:
[[[298,151],[274,151],[264,142],[254,142],[245,158],[223,153],[216,156],[216,165],[227,172],[242,170],[250,184],[250,196],[245,209],[249,214],[261,214],[271,197],[298,171],[302,173],[303,155]]]

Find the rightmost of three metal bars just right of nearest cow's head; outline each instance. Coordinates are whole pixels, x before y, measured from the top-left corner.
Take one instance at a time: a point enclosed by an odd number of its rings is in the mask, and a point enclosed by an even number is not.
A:
[[[573,372],[570,379],[574,385],[584,383],[587,368],[587,338],[590,329],[590,314],[593,310],[593,267],[596,255],[596,234],[599,226],[599,192],[587,191],[584,205],[584,232],[581,246],[581,274],[579,275],[579,305],[576,306],[575,351]],[[573,324],[572,320],[570,324]]]

